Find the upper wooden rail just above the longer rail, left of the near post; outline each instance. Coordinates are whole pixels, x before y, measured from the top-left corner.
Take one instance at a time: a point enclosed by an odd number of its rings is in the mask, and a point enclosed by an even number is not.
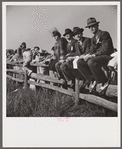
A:
[[[57,84],[62,84],[62,80],[58,80],[57,78],[50,77],[48,75],[43,75],[43,74],[36,74],[36,73],[31,73],[31,78],[33,79],[39,79],[43,81],[49,81]]]

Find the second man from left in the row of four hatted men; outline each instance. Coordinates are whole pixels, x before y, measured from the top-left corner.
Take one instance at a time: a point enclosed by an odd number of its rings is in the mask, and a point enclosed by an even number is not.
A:
[[[65,29],[65,33],[63,34],[63,36],[66,38],[67,40],[67,55],[65,56],[65,59],[64,60],[61,60],[59,62],[57,62],[55,64],[55,68],[58,72],[58,76],[59,76],[59,79],[64,79],[65,80],[65,77],[60,69],[62,63],[64,63],[67,59],[67,57],[69,56],[74,56],[75,55],[75,43],[76,43],[76,40],[73,38],[73,32],[71,29],[67,28]],[[62,86],[63,88],[67,88],[67,85],[66,85],[66,81],[64,81],[64,84]]]

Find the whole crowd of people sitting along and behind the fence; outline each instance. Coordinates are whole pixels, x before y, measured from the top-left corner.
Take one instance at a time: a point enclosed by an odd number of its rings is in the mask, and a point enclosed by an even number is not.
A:
[[[56,42],[51,53],[38,46],[31,50],[26,48],[26,43],[23,42],[10,61],[23,59],[23,67],[28,69],[29,75],[34,71],[30,62],[41,61],[49,65],[48,71],[41,73],[49,75],[49,72],[56,72],[58,79],[63,80],[62,87],[65,89],[69,81],[72,82],[70,87],[75,89],[77,78],[83,81],[81,88],[92,83],[90,93],[96,90],[97,84],[101,84],[99,93],[104,92],[110,83],[109,73],[106,74],[105,71],[117,70],[117,54],[113,54],[117,51],[109,32],[100,30],[99,23],[93,17],[87,20],[85,28],[93,34],[92,38],[84,37],[84,29],[80,27],[73,27],[73,30],[66,28],[63,36],[58,30],[53,31],[52,37]]]

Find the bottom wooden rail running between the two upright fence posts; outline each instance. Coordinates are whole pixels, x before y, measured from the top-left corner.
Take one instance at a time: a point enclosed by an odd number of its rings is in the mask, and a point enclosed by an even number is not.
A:
[[[75,93],[72,92],[72,91],[69,91],[69,90],[66,90],[66,89],[51,85],[51,84],[46,84],[46,83],[41,83],[41,82],[37,83],[37,82],[33,82],[33,81],[28,81],[28,83],[36,85],[36,86],[41,86],[41,87],[44,87],[44,88],[52,89],[52,90],[55,90],[55,91],[58,91],[58,92],[61,92],[63,94],[67,94],[67,95],[70,95],[70,96],[75,95]]]

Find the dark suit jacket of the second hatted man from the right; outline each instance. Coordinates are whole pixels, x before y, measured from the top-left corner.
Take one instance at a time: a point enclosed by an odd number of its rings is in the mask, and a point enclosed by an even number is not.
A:
[[[82,38],[82,46],[79,45],[79,41],[75,43],[75,49],[76,49],[76,56],[77,55],[82,55],[82,54],[87,54],[90,50],[91,46],[91,39],[87,37]]]

